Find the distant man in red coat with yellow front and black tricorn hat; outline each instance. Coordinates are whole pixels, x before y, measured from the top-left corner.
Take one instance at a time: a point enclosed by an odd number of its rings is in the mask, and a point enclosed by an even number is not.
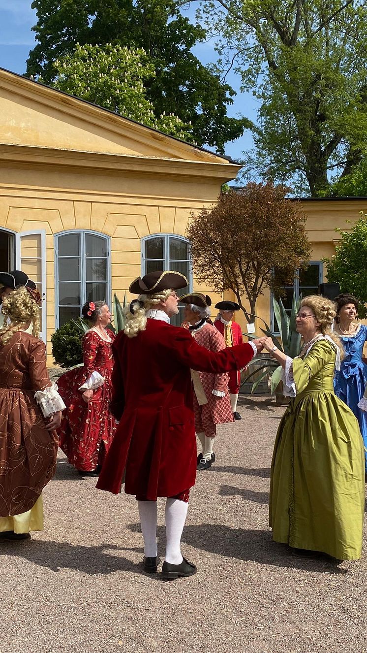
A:
[[[219,315],[214,322],[214,327],[224,337],[224,342],[226,347],[233,347],[234,345],[242,345],[242,330],[237,322],[233,322],[233,315],[235,311],[240,310],[239,304],[236,302],[218,302],[215,305],[215,308],[219,309]],[[229,383],[228,389],[231,396],[231,406],[233,411],[233,417],[235,419],[242,419],[241,415],[237,412],[237,400],[239,398],[239,389],[241,383],[241,372],[239,370],[231,370],[229,372]]]

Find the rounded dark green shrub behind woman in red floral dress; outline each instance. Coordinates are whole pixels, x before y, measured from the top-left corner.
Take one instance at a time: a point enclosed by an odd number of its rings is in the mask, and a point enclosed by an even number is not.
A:
[[[83,362],[81,338],[83,333],[74,320],[69,320],[51,336],[55,364],[68,369]]]

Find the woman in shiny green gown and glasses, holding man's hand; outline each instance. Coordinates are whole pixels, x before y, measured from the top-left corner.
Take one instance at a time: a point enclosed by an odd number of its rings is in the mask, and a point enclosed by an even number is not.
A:
[[[342,344],[331,332],[333,302],[302,300],[297,331],[299,357],[262,342],[284,368],[284,388],[293,396],[276,436],[271,466],[272,537],[295,554],[319,552],[356,560],[362,550],[364,447],[355,415],[335,394]],[[286,394],[285,392],[285,394]]]

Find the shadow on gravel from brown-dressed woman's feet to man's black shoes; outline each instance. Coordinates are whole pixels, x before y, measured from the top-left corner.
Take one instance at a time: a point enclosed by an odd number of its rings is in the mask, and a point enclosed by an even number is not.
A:
[[[111,550],[115,550],[117,554],[111,554],[109,552]],[[136,565],[131,560],[120,556],[119,552],[122,550],[126,549],[111,544],[83,547],[68,542],[33,539],[25,542],[2,542],[0,560],[1,555],[18,556],[22,560],[28,560],[40,567],[51,569],[51,571],[74,569],[88,575],[106,575],[115,571],[143,573],[142,565]],[[141,553],[141,559],[143,559],[143,553]]]

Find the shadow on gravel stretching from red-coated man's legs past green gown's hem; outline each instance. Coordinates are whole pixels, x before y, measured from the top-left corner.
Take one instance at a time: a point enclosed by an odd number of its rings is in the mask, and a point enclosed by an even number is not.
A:
[[[133,533],[141,533],[140,524],[128,524]],[[164,552],[166,529],[158,526],[158,552]],[[340,569],[333,558],[321,556],[316,560],[295,558],[286,544],[273,542],[270,530],[245,530],[230,528],[221,524],[199,524],[185,526],[182,537],[183,544],[193,549],[214,553],[225,558],[237,560],[252,560],[262,565],[288,567],[289,569],[305,569],[317,573],[345,574],[347,569]],[[183,551],[184,554],[184,551]],[[194,552],[190,553],[195,563]]]

